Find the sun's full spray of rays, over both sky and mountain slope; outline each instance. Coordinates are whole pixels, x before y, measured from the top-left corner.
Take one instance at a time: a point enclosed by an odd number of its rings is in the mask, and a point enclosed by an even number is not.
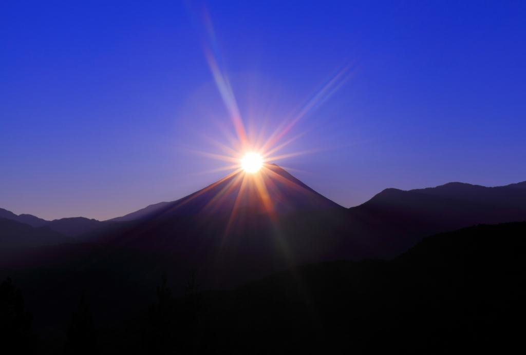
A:
[[[204,138],[219,153],[195,150],[192,152],[225,162],[224,166],[209,170],[210,173],[229,170],[233,170],[233,172],[217,183],[188,196],[184,201],[176,203],[174,208],[197,199],[211,189],[215,189],[214,196],[211,199],[203,202],[202,206],[201,204],[198,205],[206,213],[213,213],[222,209],[220,212],[227,214],[225,233],[221,239],[222,248],[232,228],[238,227],[235,223],[242,223],[240,217],[245,215],[244,208],[247,207],[248,203],[250,208],[256,208],[258,212],[264,215],[262,218],[269,219],[272,228],[274,228],[271,237],[280,246],[283,253],[282,257],[291,261],[293,255],[288,249],[284,229],[279,225],[280,194],[283,194],[284,186],[298,191],[307,189],[307,186],[289,180],[289,176],[285,177],[281,173],[277,173],[270,163],[322,150],[315,148],[296,151],[296,149],[291,148],[294,145],[292,143],[304,137],[306,132],[296,134],[294,137],[290,137],[290,134],[298,126],[298,122],[323,105],[348,81],[352,74],[353,63],[346,64],[330,75],[317,90],[314,90],[301,105],[291,110],[289,114],[275,117],[274,112],[270,110],[272,103],[263,109],[255,110],[255,106],[251,104],[252,99],[258,98],[257,96],[247,98],[248,107],[247,105],[239,106],[241,103],[245,104],[245,101],[241,101],[235,95],[213,23],[206,11],[202,19],[206,33],[203,42],[205,59],[222,104],[226,108],[227,118],[218,117],[215,112],[211,114],[210,116],[217,123],[217,132],[223,137],[221,141],[209,137]],[[277,91],[274,92],[274,95],[279,97]],[[248,120],[247,117],[243,117],[245,114],[248,116]],[[279,124],[270,125],[271,122],[278,120]],[[247,160],[249,154],[252,154],[251,159]]]

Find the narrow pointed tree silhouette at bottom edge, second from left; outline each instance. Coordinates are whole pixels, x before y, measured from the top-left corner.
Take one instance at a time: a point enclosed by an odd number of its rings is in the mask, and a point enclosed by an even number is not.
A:
[[[93,315],[86,297],[80,296],[77,310],[73,313],[67,332],[66,354],[97,353],[97,336]]]

